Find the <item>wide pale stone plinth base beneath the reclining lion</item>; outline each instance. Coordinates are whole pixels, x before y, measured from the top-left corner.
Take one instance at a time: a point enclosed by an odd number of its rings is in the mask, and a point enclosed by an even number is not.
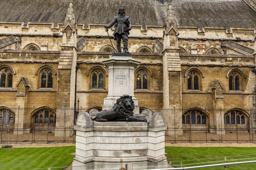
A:
[[[154,113],[150,122],[93,122],[88,113],[80,113],[73,167],[88,162],[164,161],[165,129],[160,113]]]

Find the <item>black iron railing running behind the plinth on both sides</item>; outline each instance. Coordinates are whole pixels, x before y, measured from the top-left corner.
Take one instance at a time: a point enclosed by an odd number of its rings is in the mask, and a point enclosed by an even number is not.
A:
[[[91,109],[80,107],[76,114]],[[256,142],[255,108],[143,109],[163,114],[166,142]],[[74,117],[74,108],[67,107],[0,107],[0,143],[73,143]]]

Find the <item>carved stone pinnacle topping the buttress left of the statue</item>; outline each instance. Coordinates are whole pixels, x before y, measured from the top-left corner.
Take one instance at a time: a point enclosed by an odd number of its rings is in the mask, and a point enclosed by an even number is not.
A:
[[[74,8],[73,8],[72,2],[73,2],[73,0],[70,0],[70,5],[68,7],[67,15],[66,15],[65,21],[63,23],[61,32],[65,32],[65,29],[67,28],[67,26],[70,26],[70,28],[72,29],[72,33],[76,33],[76,31],[77,31]]]

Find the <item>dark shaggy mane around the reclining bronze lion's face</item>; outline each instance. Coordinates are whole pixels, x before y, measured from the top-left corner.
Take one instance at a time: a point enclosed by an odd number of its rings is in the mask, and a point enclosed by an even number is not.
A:
[[[129,98],[131,99],[131,108],[125,108],[124,106],[124,99]],[[132,97],[129,95],[123,95],[119,99],[116,100],[116,103],[113,106],[114,111],[119,116],[133,116],[133,110],[135,108],[134,101],[132,100]]]

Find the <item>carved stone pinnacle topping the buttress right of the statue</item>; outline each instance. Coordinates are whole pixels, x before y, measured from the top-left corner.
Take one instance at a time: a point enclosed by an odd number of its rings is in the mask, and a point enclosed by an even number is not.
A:
[[[177,24],[176,24],[176,19],[175,19],[175,16],[174,16],[174,11],[173,11],[173,8],[172,8],[172,0],[168,0],[168,16],[167,16],[167,19],[166,19],[166,25],[164,25],[164,34],[165,35],[169,35],[169,31],[173,28],[174,31],[176,32],[176,35],[178,36],[180,33],[178,32],[178,29],[177,29]]]

